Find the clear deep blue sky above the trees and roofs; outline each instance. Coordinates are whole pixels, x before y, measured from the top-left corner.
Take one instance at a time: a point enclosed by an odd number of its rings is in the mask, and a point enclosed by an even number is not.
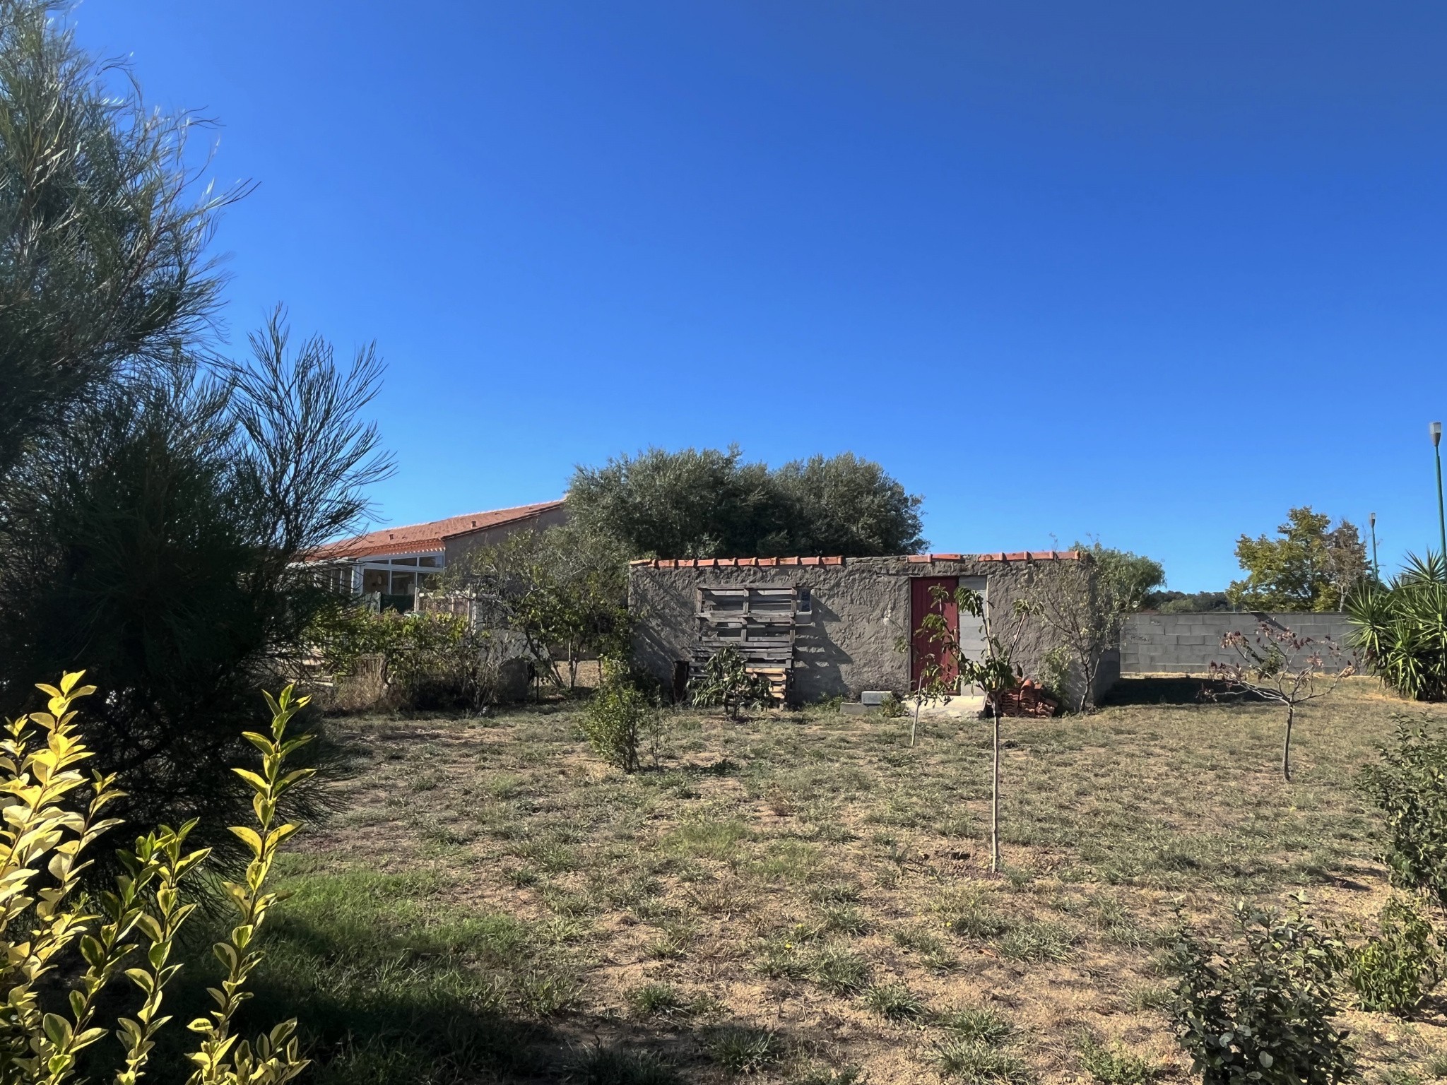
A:
[[[252,178],[233,340],[375,339],[405,524],[852,450],[935,550],[1434,544],[1447,6],[85,0]]]

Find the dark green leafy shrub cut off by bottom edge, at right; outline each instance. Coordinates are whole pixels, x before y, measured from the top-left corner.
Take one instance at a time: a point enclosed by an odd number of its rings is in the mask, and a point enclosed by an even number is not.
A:
[[[1334,1085],[1353,1076],[1333,978],[1340,945],[1298,901],[1283,916],[1237,904],[1242,939],[1202,939],[1178,917],[1176,1039],[1204,1085]]]

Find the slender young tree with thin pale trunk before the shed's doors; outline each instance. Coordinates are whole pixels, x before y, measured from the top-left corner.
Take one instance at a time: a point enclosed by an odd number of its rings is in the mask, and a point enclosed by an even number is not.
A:
[[[1023,602],[1016,602],[1011,610],[1011,621],[1006,628],[997,628],[990,613],[990,605],[983,593],[969,587],[935,587],[932,595],[936,602],[954,600],[959,613],[978,618],[984,624],[985,651],[980,658],[969,658],[959,642],[959,629],[951,628],[945,615],[932,610],[920,622],[920,632],[929,637],[939,647],[939,654],[926,665],[922,689],[929,699],[949,700],[942,692],[943,674],[951,670],[959,678],[949,683],[958,690],[961,686],[977,686],[985,699],[984,715],[993,725],[991,761],[990,761],[990,869],[1000,869],[1000,696],[1020,684],[1023,671],[1014,665],[1014,650],[1020,644],[1020,634],[1024,632],[1024,622],[1030,615]],[[942,609],[942,608],[941,608]],[[954,667],[951,667],[954,664]],[[928,683],[928,686],[926,686]]]

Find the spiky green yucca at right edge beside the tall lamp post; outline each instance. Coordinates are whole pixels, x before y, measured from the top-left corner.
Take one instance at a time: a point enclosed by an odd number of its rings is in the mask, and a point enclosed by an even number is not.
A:
[[[1447,699],[1447,561],[1409,554],[1388,584],[1347,599],[1351,644],[1382,681],[1412,700]]]

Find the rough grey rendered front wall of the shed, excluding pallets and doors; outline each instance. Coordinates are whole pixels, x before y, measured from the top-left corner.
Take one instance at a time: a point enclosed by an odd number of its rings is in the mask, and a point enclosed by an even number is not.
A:
[[[913,577],[962,577],[983,586],[991,613],[1003,622],[1036,577],[1081,574],[1085,574],[1081,563],[1053,558],[868,557],[844,558],[838,566],[703,569],[637,564],[628,576],[628,602],[635,616],[634,660],[667,683],[674,661],[690,658],[699,587],[797,584],[810,590],[815,624],[797,631],[794,697],[810,702],[841,693],[855,696],[868,689],[904,694],[910,657],[899,645],[909,639]],[[968,642],[968,628],[962,632]],[[1027,676],[1039,677],[1040,657],[1051,644],[1037,624],[1026,626],[1016,658]]]

